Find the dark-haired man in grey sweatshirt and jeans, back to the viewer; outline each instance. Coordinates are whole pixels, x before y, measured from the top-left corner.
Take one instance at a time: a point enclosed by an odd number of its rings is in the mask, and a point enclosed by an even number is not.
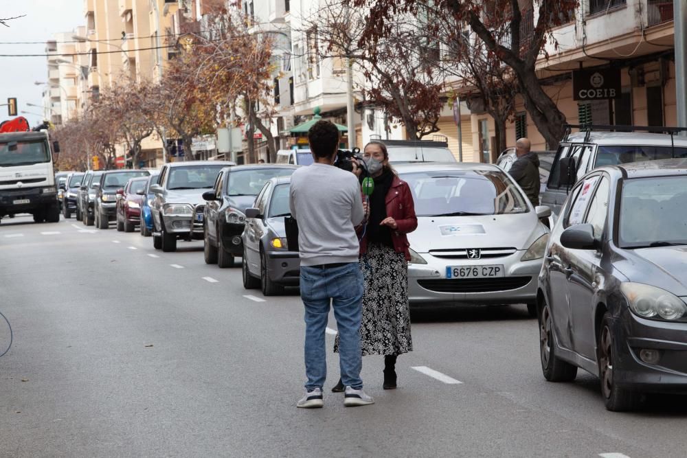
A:
[[[322,387],[327,374],[325,330],[329,305],[339,328],[339,365],[346,387],[346,407],[373,404],[360,378],[363,274],[358,263],[359,242],[354,227],[363,218],[360,185],[355,174],[334,167],[339,130],[318,121],[308,131],[315,162],[291,175],[289,205],[298,220],[300,290],[305,306],[306,394],[297,407],[324,405]]]

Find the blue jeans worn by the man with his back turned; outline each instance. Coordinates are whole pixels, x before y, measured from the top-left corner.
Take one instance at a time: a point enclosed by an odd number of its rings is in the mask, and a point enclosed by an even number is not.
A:
[[[322,388],[327,377],[324,334],[330,303],[339,328],[341,381],[345,386],[361,389],[363,273],[359,264],[352,262],[333,268],[301,266],[300,290],[305,306],[306,389]]]

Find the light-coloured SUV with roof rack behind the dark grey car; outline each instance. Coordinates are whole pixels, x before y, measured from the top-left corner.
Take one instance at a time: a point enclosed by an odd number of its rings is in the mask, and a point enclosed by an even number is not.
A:
[[[635,129],[652,128],[636,127]],[[670,128],[660,129],[669,130]],[[556,151],[549,180],[541,194],[541,205],[547,205],[552,211],[550,227],[553,227],[572,185],[590,170],[602,165],[654,161],[671,157],[687,157],[685,137],[661,133],[598,130],[586,130],[566,135]]]

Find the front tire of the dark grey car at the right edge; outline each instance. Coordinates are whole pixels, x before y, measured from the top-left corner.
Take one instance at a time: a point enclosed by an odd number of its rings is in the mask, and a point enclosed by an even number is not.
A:
[[[598,334],[596,360],[601,380],[601,395],[606,409],[613,412],[631,411],[638,407],[642,396],[631,389],[618,387],[615,377],[616,341],[611,326],[611,314],[606,312]]]

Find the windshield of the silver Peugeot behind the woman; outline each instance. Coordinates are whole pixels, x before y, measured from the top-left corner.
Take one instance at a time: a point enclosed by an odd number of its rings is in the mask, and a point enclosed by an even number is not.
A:
[[[441,170],[403,174],[417,216],[526,213],[521,192],[500,170]]]

